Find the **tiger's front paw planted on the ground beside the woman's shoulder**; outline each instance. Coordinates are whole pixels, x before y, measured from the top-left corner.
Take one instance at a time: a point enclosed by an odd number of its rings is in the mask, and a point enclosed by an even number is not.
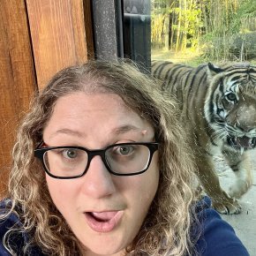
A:
[[[225,202],[213,201],[213,207],[222,215],[238,215],[242,210],[237,200],[231,198],[229,201],[226,200]]]

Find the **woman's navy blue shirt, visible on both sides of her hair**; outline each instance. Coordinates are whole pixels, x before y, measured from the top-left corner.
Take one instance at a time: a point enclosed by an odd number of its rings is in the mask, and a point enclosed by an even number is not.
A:
[[[5,202],[0,204],[0,212],[4,210]],[[201,200],[197,207],[198,225],[192,228],[192,237],[198,236],[196,241],[196,251],[201,256],[249,256],[245,246],[236,236],[235,231],[228,222],[222,220],[221,216],[212,208],[211,200],[205,197]],[[2,207],[2,208],[1,208]],[[0,221],[0,255],[10,256],[11,254],[4,248],[2,243],[4,234],[11,227],[21,225],[19,217],[10,215],[5,221]],[[25,255],[22,248],[28,241],[29,234],[14,233],[11,238],[12,248],[17,252],[17,255]],[[39,247],[34,246],[26,253],[29,256],[42,256],[43,254]]]

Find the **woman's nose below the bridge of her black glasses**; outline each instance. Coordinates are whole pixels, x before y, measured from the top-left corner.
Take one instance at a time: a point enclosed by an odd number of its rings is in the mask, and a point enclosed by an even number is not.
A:
[[[87,196],[99,199],[116,192],[112,175],[106,169],[100,155],[93,157],[87,169],[87,174],[82,178],[84,179],[82,190]]]

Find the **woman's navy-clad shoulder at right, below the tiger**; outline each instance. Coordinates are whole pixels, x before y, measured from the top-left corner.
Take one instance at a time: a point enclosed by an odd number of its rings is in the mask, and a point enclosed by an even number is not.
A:
[[[198,222],[192,229],[192,236],[199,235],[196,250],[202,256],[249,256],[235,230],[228,222],[222,220],[211,200],[205,197],[196,206]]]

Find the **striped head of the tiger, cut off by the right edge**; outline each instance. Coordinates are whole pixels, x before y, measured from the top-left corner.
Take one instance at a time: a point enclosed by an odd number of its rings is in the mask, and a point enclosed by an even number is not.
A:
[[[208,64],[208,87],[204,114],[215,131],[237,150],[256,146],[256,66]]]

